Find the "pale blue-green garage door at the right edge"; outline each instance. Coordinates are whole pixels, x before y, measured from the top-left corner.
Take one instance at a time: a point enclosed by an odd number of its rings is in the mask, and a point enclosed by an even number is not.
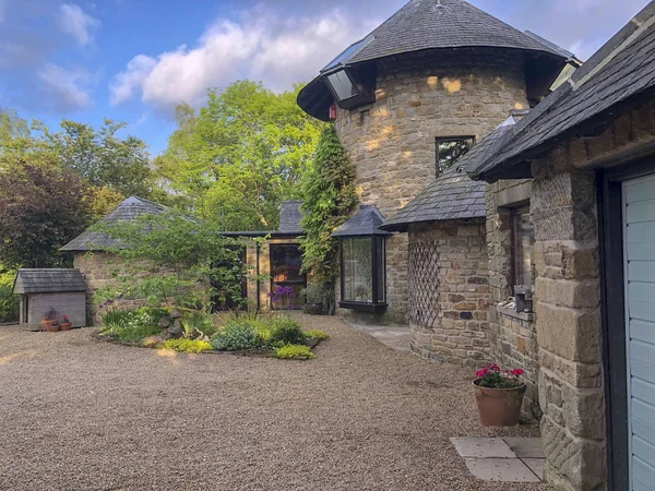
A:
[[[655,489],[655,176],[623,183],[631,490]]]

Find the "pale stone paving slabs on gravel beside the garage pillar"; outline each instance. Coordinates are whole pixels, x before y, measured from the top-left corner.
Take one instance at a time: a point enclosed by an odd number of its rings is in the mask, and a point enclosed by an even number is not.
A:
[[[471,474],[486,481],[540,482],[546,459],[538,438],[451,439]]]

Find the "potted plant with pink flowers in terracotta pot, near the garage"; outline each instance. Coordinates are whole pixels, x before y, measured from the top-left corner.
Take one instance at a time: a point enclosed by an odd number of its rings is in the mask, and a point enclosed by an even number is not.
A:
[[[519,423],[525,383],[519,379],[523,370],[500,370],[487,364],[473,381],[480,421],[486,427],[513,427]]]

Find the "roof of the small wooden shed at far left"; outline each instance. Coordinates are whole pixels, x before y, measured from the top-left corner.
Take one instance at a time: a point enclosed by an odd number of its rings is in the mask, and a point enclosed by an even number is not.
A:
[[[79,270],[19,270],[14,294],[63,294],[86,291],[86,282]]]

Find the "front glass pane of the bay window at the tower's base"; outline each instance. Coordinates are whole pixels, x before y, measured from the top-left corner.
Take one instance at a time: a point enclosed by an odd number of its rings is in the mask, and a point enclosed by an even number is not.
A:
[[[343,248],[343,299],[352,302],[372,302],[371,238],[344,239]]]

